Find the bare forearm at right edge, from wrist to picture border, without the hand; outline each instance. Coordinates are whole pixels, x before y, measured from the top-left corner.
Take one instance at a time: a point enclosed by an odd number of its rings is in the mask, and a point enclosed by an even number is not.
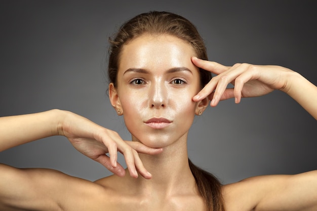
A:
[[[285,89],[282,90],[296,100],[317,120],[317,87],[296,72],[289,75]]]

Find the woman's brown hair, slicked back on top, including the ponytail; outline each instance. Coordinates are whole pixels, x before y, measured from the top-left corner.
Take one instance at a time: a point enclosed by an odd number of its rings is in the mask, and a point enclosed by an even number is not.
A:
[[[129,41],[144,34],[169,34],[187,41],[194,49],[196,56],[208,60],[203,38],[196,27],[182,16],[169,12],[142,13],[124,23],[111,39],[109,38],[109,82],[116,87],[118,63],[122,47]],[[200,69],[202,87],[211,79],[211,73]],[[210,173],[192,164],[188,159],[190,170],[195,178],[197,189],[206,202],[208,211],[223,211],[224,202],[221,194],[220,182]]]

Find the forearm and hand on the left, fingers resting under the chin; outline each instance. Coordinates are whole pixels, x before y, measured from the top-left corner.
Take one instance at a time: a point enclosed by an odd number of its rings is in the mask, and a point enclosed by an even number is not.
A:
[[[69,111],[50,110],[41,113],[0,117],[0,151],[37,139],[62,135],[81,153],[100,162],[109,171],[124,176],[125,170],[116,163],[117,151],[126,159],[132,177],[139,173],[150,179],[137,152],[157,154],[162,149],[146,147],[138,142],[124,141],[114,131]],[[109,156],[106,155],[109,153]]]

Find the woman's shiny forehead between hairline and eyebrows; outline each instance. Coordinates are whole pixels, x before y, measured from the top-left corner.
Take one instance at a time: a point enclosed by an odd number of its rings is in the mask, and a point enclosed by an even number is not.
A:
[[[190,58],[196,56],[185,40],[172,35],[141,35],[122,49],[118,70],[128,68],[170,69],[187,67],[196,69]]]

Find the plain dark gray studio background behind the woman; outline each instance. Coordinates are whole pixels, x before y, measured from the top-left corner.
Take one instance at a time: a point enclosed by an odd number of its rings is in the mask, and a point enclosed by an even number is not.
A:
[[[315,1],[1,1],[0,116],[59,108],[130,139],[105,94],[107,37],[150,10],[191,20],[206,40],[210,60],[282,65],[316,85],[315,6]],[[316,120],[275,91],[208,108],[195,119],[188,150],[195,164],[223,183],[296,174],[317,169],[316,129]],[[0,162],[56,168],[88,180],[109,175],[64,137],[1,152]]]

